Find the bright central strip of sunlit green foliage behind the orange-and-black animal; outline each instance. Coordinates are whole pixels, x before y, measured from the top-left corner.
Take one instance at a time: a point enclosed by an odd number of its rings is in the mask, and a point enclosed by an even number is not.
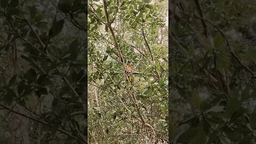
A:
[[[89,143],[167,143],[167,3],[88,1]]]

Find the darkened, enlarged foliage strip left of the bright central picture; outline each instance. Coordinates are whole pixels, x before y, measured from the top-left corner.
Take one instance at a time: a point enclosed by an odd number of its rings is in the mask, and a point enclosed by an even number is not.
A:
[[[0,143],[87,143],[87,3],[0,1]]]

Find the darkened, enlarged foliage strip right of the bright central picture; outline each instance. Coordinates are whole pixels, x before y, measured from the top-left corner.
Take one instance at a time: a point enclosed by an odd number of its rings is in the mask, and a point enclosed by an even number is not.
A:
[[[169,3],[170,143],[256,143],[256,3]]]

